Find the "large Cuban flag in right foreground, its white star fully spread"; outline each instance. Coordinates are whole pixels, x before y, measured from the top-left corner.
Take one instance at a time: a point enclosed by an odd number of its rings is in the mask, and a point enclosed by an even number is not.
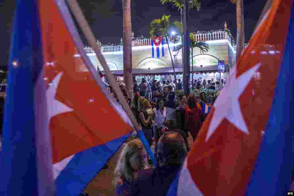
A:
[[[294,162],[293,17],[293,0],[273,1],[168,196],[286,195]]]

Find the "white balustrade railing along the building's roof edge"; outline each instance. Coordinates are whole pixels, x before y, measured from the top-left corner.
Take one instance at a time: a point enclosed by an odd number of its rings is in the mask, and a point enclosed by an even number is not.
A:
[[[210,40],[219,40],[219,39],[228,39],[228,41],[231,43],[231,45],[235,49],[235,45],[232,43],[231,38],[228,36],[228,33],[225,31],[194,34],[195,41],[210,41]],[[165,37],[163,37],[163,43],[167,44]],[[132,41],[132,47],[150,46],[150,45],[151,45],[151,38],[136,39]],[[86,53],[94,53],[94,50],[91,47],[85,47],[84,49]],[[123,46],[121,45],[101,46],[100,49],[101,49],[101,52],[116,52],[116,51],[123,51]]]

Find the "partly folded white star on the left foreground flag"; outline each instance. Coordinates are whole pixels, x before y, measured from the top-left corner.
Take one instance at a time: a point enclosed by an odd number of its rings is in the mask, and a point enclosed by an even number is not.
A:
[[[49,88],[47,89],[47,92],[46,92],[47,107],[48,107],[48,120],[49,120],[49,122],[50,122],[50,119],[53,116],[56,116],[57,114],[73,111],[72,108],[66,106],[64,103],[61,103],[60,101],[55,99],[56,90],[57,90],[59,80],[60,80],[62,74],[63,74],[62,72],[59,73],[52,80],[52,83],[51,83],[51,85],[49,86]]]

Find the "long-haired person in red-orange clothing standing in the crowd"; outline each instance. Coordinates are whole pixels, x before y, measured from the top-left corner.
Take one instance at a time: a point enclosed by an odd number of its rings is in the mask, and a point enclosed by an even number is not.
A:
[[[186,127],[188,128],[188,131],[193,137],[193,141],[195,141],[198,132],[200,131],[200,128],[202,126],[202,109],[201,106],[197,103],[196,97],[193,94],[190,94],[188,96],[186,106]]]

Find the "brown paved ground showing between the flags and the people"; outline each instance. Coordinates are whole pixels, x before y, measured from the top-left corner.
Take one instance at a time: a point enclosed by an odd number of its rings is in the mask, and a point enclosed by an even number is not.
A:
[[[189,144],[193,144],[193,138],[189,134]],[[96,177],[88,184],[85,189],[85,193],[88,193],[89,196],[113,196],[114,195],[114,186],[111,184],[111,181],[114,178],[114,168],[118,160],[119,154],[121,153],[123,146],[114,154],[113,157],[108,162],[108,169],[102,169]],[[154,150],[154,145],[152,145]]]

